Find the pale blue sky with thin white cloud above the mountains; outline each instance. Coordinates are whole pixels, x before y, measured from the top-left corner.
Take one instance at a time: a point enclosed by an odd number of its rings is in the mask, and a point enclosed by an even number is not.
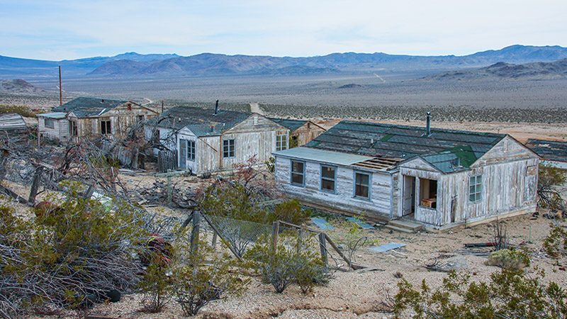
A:
[[[0,55],[465,55],[567,47],[565,0],[0,0]]]

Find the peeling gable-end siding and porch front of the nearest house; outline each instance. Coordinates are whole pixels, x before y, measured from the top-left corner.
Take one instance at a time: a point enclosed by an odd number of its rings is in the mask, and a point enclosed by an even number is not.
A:
[[[512,138],[504,138],[471,165],[470,170],[441,174],[421,159],[415,159],[403,164],[400,174],[437,180],[437,209],[420,207],[416,196],[415,220],[441,227],[533,211],[538,164],[537,155]],[[482,176],[482,199],[472,203],[468,198],[470,177],[478,175]],[[420,194],[419,184],[417,181],[415,194]],[[398,204],[401,206],[399,199]]]

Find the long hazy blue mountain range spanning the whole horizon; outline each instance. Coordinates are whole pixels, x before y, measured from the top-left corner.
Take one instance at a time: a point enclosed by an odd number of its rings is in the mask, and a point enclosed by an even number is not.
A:
[[[416,70],[454,70],[487,67],[497,62],[524,64],[567,58],[567,47],[512,45],[471,55],[416,56],[386,53],[332,53],[316,57],[271,57],[203,53],[91,57],[60,62],[0,56],[0,77],[57,77],[61,65],[66,77],[185,77],[239,74],[328,74]]]

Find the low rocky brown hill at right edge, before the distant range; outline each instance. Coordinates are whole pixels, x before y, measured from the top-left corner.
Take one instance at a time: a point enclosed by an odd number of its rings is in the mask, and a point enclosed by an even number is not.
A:
[[[479,79],[567,79],[567,59],[515,65],[498,62],[488,67],[443,72],[424,80],[473,81]]]

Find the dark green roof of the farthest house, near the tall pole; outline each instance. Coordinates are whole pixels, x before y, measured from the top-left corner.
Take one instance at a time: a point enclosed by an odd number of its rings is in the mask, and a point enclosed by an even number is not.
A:
[[[72,112],[77,118],[89,118],[101,116],[103,113],[111,111],[113,108],[126,102],[128,101],[78,97],[77,99],[72,99],[61,106],[53,108],[53,112]]]

